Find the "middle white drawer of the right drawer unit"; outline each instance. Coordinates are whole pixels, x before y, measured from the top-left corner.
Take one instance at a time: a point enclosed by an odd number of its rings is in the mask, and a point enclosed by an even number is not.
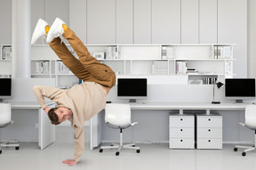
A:
[[[197,128],[197,139],[222,138],[222,128]]]

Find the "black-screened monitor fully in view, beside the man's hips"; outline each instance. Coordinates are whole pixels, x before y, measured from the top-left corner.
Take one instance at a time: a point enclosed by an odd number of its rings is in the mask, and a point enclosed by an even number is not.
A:
[[[117,79],[117,97],[129,99],[145,99],[148,95],[148,83],[146,78],[119,78]]]

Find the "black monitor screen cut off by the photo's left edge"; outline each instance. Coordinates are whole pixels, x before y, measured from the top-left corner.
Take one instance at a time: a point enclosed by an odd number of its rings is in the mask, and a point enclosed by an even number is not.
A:
[[[12,93],[12,79],[0,78],[0,98],[11,97]]]

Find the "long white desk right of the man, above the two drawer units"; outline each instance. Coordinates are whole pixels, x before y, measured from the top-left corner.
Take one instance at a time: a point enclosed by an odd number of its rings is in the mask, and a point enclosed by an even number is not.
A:
[[[205,110],[206,114],[210,114],[213,110],[244,110],[246,104],[234,103],[129,103],[134,111],[173,111],[178,110],[180,114],[184,110]],[[91,128],[91,149],[98,147],[102,141],[102,114],[94,116],[90,123]]]

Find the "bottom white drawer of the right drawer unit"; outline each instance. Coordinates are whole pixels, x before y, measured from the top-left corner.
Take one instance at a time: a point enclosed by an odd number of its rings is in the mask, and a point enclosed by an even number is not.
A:
[[[198,139],[197,149],[222,149],[221,139]]]

